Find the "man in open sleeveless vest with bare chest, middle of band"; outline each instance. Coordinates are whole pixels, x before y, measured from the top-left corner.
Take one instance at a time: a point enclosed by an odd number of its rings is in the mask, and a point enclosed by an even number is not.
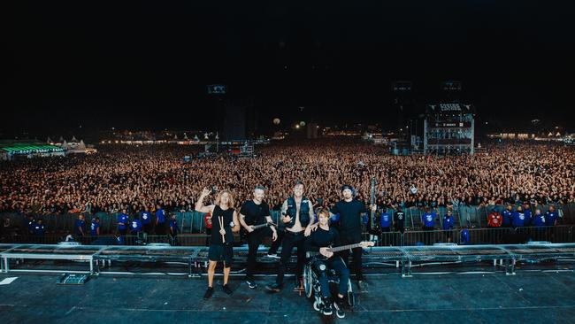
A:
[[[311,233],[311,226],[316,222],[313,214],[313,204],[310,199],[303,196],[303,182],[295,181],[294,195],[288,197],[281,205],[281,222],[286,227],[286,234],[281,243],[281,259],[276,281],[265,286],[266,289],[278,292],[283,286],[283,278],[286,273],[292,250],[297,248],[297,266],[295,267],[296,279],[302,276],[303,263],[305,262],[304,232]],[[308,229],[310,228],[310,229]],[[298,281],[299,282],[299,281]]]

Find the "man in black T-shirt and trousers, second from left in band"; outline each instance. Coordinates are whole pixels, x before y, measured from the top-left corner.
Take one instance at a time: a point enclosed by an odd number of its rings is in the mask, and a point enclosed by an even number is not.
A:
[[[248,232],[248,264],[246,266],[246,283],[250,289],[257,288],[257,283],[254,280],[254,268],[256,267],[257,249],[264,241],[265,236],[270,234],[272,230],[272,240],[278,238],[276,228],[273,226],[257,228],[254,226],[263,224],[272,224],[272,216],[270,216],[270,206],[265,203],[265,188],[256,186],[254,189],[254,197],[247,200],[242,204],[240,209],[240,223],[242,228]],[[213,231],[213,229],[212,229]]]

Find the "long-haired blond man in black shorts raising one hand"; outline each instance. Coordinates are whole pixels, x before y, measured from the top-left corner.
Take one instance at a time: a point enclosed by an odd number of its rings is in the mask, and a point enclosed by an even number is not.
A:
[[[213,294],[213,276],[216,272],[218,262],[224,262],[224,285],[222,289],[227,295],[232,294],[232,289],[227,285],[227,280],[232,269],[232,258],[234,258],[234,234],[240,230],[238,214],[234,210],[234,197],[227,190],[222,190],[216,197],[214,204],[203,205],[203,199],[210,195],[210,189],[203,189],[202,195],[196,203],[196,212],[211,213],[211,241],[208,259],[208,289],[203,295],[208,299]]]

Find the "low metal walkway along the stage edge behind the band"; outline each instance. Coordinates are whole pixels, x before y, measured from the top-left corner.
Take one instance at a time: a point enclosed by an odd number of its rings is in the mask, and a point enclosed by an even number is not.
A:
[[[276,263],[277,259],[265,258],[266,249],[258,251],[258,262]],[[245,265],[248,248],[234,248],[234,265]],[[10,272],[51,272],[131,274],[130,272],[106,272],[112,262],[172,262],[185,265],[188,276],[203,274],[207,262],[207,247],[178,247],[166,243],[149,246],[119,245],[80,245],[79,243],[59,244],[0,244],[1,271]],[[290,260],[295,263],[295,254]],[[20,262],[26,259],[80,261],[86,264],[86,270],[66,271],[59,269],[20,269]],[[364,249],[364,266],[374,263],[392,263],[401,266],[403,277],[410,277],[412,268],[422,264],[452,264],[493,262],[494,266],[503,266],[506,274],[515,274],[517,262],[525,260],[575,259],[575,243],[528,244],[492,244],[492,245],[456,245],[440,243],[432,246],[374,247]],[[60,265],[61,266],[61,265]],[[64,265],[65,266],[65,265]]]

